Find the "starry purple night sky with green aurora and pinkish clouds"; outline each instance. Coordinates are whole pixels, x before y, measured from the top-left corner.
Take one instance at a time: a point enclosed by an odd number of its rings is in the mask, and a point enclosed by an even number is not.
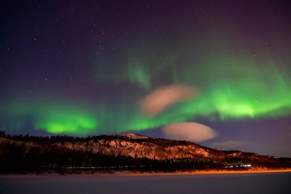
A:
[[[0,9],[6,133],[134,132],[291,157],[290,1],[4,0]]]

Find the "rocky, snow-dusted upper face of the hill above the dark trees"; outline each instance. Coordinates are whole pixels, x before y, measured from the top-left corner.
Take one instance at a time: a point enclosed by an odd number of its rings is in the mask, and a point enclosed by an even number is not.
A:
[[[146,157],[149,159],[209,159],[218,160],[238,160],[238,161],[261,161],[275,162],[277,159],[270,156],[261,156],[255,153],[241,152],[238,150],[223,151],[200,146],[193,142],[164,140],[150,138],[143,135],[127,133],[123,135],[102,135],[87,138],[74,138],[68,136],[61,137],[35,137],[27,140],[15,141],[7,138],[0,138],[0,147],[5,147],[12,143],[19,147],[24,147],[28,153],[33,147],[46,150],[47,147],[57,149],[69,149],[75,151],[90,151],[93,153],[105,153],[113,155],[127,155],[131,157]],[[38,138],[38,139],[37,139]],[[59,139],[58,139],[59,138]],[[2,145],[2,146],[1,146]],[[4,149],[4,148],[3,148]],[[0,152],[4,150],[0,149]]]

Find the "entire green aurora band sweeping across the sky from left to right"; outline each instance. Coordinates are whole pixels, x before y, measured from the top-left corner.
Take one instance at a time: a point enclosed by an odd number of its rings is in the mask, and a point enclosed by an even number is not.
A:
[[[173,59],[169,63],[171,61]],[[270,61],[264,63],[264,68],[258,68],[255,62],[234,57],[211,58],[200,64],[201,67],[185,66],[181,72],[172,69],[173,79],[169,83],[195,86],[200,95],[170,106],[153,118],[140,113],[139,99],[136,99],[131,104],[97,104],[90,108],[63,102],[54,105],[7,104],[1,111],[1,123],[4,130],[20,130],[28,126],[28,118],[31,118],[36,130],[87,135],[153,129],[173,122],[193,121],[201,116],[215,121],[291,114],[291,79],[288,75],[291,71],[280,70]],[[118,80],[137,83],[146,93],[154,89],[151,87],[152,77],[163,73],[162,65],[159,70],[149,71],[133,59],[127,67],[128,71],[117,76]]]

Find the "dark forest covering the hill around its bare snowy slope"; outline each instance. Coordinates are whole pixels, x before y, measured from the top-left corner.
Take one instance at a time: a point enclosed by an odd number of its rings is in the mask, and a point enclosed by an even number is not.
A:
[[[225,158],[173,158],[167,160],[149,159],[130,155],[112,153],[94,153],[89,150],[75,150],[58,146],[56,143],[88,142],[97,139],[124,139],[126,141],[151,141],[160,146],[194,144],[186,141],[169,141],[163,139],[129,139],[118,135],[102,135],[88,137],[50,136],[38,137],[9,135],[0,131],[0,174],[93,174],[114,173],[115,171],[130,172],[192,172],[210,170],[248,170],[244,164],[252,168],[286,169],[291,168],[287,159],[276,160],[250,159],[238,157]],[[25,144],[24,144],[24,143]],[[208,148],[211,149],[211,148]],[[214,149],[212,149],[214,150]],[[223,151],[232,153],[235,150]],[[217,152],[217,154],[221,153]],[[245,153],[247,155],[247,153]],[[266,157],[265,157],[266,158]],[[226,166],[233,166],[226,168]]]

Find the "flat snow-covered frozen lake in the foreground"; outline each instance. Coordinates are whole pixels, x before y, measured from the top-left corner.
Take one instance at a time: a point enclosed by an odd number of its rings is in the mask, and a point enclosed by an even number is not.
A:
[[[291,194],[291,172],[207,175],[0,175],[0,194]]]

